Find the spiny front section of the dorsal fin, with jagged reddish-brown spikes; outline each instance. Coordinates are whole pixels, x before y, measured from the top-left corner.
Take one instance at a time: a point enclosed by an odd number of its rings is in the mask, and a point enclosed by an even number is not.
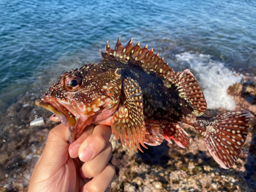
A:
[[[126,61],[136,64],[149,72],[154,72],[159,77],[166,79],[174,74],[173,69],[168,67],[168,63],[164,62],[163,57],[160,58],[158,53],[155,54],[153,49],[148,50],[147,45],[144,48],[140,47],[140,42],[133,46],[131,39],[125,47],[122,46],[120,37],[116,43],[115,49],[111,49],[109,41],[106,42],[106,52],[100,53],[103,59]]]

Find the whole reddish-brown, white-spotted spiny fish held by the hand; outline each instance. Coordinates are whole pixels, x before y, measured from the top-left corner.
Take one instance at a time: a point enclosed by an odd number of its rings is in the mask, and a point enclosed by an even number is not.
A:
[[[129,150],[163,140],[188,147],[182,125],[196,130],[210,155],[230,168],[241,155],[250,125],[250,112],[234,111],[205,117],[207,103],[197,79],[185,69],[174,72],[147,45],[124,47],[120,37],[114,50],[107,41],[102,60],[60,75],[35,104],[53,113],[51,120],[68,127],[69,142],[89,124],[112,127]],[[131,147],[130,147],[131,146]],[[138,148],[138,150],[137,150]]]

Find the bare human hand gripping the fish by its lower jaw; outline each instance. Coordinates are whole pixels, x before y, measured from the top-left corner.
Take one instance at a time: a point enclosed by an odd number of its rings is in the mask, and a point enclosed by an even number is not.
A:
[[[115,168],[108,163],[112,156],[110,136],[109,126],[89,125],[69,145],[67,127],[54,127],[34,167],[29,192],[109,191],[116,177]]]

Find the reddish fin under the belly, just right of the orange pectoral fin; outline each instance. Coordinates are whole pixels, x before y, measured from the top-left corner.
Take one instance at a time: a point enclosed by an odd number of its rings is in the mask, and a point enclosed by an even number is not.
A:
[[[156,146],[163,142],[163,130],[160,127],[160,122],[152,120],[145,122],[146,134],[144,143]]]

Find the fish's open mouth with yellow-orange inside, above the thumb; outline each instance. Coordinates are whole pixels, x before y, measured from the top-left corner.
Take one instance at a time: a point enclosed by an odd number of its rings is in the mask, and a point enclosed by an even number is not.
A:
[[[76,124],[75,116],[53,98],[40,98],[35,101],[35,104],[54,113],[64,126],[70,127]]]

